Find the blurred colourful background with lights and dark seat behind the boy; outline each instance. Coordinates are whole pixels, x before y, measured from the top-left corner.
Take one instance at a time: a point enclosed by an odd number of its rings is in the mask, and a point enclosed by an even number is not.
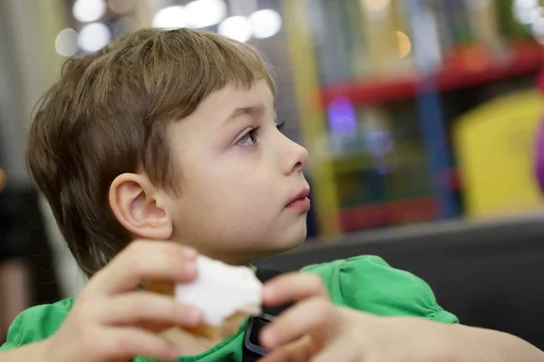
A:
[[[313,209],[302,251],[264,263],[295,269],[379,253],[423,276],[465,319],[544,344],[526,299],[539,295],[544,268],[534,171],[544,116],[542,6],[0,0],[0,339],[21,308],[76,295],[85,282],[25,171],[32,107],[68,57],[152,26],[222,33],[257,47],[275,69],[277,117],[310,153]],[[502,303],[502,319],[528,311],[496,325],[491,301]]]

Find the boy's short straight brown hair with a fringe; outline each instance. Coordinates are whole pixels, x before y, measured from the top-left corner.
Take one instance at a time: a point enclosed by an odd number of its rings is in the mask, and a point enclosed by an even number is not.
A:
[[[27,163],[87,276],[131,241],[108,203],[114,178],[143,170],[175,192],[167,125],[228,84],[261,79],[275,92],[251,47],[189,29],[127,33],[64,63],[34,110]]]

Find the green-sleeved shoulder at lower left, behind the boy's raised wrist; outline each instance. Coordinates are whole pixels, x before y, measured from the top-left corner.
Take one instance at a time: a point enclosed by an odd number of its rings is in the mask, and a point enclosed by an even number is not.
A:
[[[60,300],[24,310],[9,328],[5,345],[0,350],[16,348],[50,337],[72,310],[75,298]]]

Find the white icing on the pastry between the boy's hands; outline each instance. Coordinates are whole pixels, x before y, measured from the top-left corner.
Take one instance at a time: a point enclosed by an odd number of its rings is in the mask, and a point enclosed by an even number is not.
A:
[[[203,255],[199,255],[197,265],[197,280],[176,285],[175,297],[202,310],[206,324],[219,326],[237,311],[251,315],[261,312],[263,285],[250,268]]]

